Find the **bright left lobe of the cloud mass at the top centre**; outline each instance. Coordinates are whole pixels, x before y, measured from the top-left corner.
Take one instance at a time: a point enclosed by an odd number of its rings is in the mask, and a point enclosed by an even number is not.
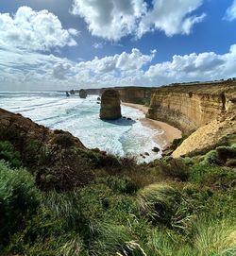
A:
[[[84,18],[92,35],[118,41],[137,28],[143,0],[74,0],[72,13]]]

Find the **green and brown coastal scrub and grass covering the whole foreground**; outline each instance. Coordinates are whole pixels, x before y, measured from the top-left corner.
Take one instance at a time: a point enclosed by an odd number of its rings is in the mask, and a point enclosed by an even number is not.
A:
[[[235,255],[235,134],[137,164],[61,130],[39,140],[12,117],[0,124],[1,255]]]

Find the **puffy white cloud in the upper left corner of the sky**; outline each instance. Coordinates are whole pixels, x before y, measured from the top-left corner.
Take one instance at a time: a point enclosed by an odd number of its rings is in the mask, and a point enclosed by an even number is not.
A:
[[[63,29],[59,18],[48,10],[19,8],[14,15],[0,13],[0,47],[32,51],[74,46],[74,28]]]

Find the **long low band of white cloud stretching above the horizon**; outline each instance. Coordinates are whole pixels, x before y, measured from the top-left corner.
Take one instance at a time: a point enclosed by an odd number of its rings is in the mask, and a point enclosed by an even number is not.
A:
[[[236,77],[236,44],[222,55],[175,55],[171,61],[149,66],[155,55],[156,50],[143,55],[133,49],[130,53],[76,63],[53,55],[0,49],[0,91],[159,86]]]

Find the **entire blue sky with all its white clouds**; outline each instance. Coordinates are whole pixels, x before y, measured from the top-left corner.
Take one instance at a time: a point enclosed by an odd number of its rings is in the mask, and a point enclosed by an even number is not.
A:
[[[236,0],[0,0],[0,91],[236,77]]]

